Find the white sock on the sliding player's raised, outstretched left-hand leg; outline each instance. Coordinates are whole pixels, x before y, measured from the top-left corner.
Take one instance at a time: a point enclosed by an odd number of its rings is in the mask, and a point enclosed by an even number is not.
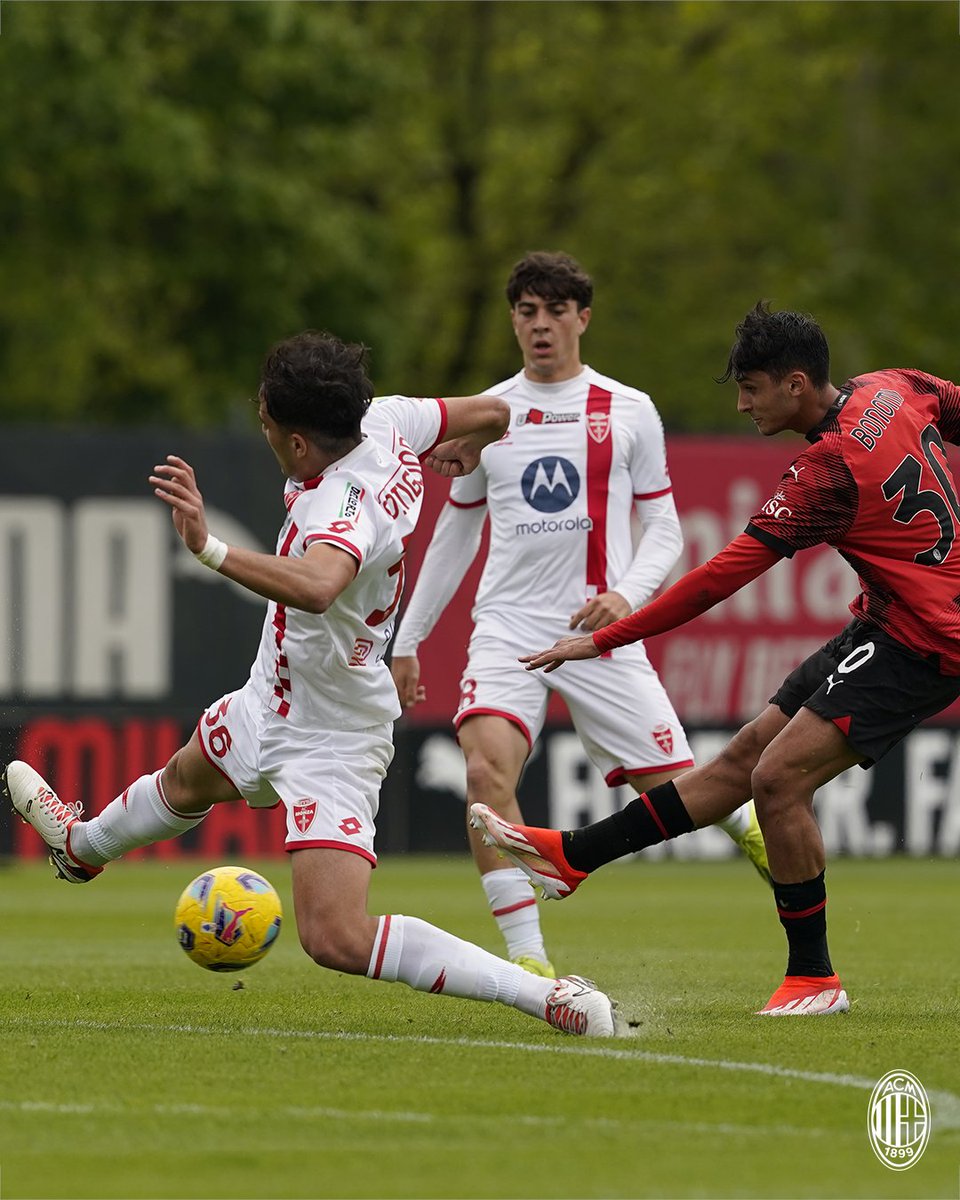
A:
[[[71,854],[90,866],[102,866],[138,846],[176,838],[203,821],[210,809],[190,817],[174,812],[163,794],[162,774],[140,775],[100,816],[71,826]]]

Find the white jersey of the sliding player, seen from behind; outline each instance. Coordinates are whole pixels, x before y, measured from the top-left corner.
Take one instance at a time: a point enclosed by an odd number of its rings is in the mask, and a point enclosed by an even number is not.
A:
[[[319,541],[358,563],[325,613],[268,605],[247,689],[289,725],[360,730],[400,715],[384,655],[422,503],[420,457],[445,427],[443,401],[385,397],[364,418],[360,445],[316,479],[288,480],[277,554],[302,558]]]

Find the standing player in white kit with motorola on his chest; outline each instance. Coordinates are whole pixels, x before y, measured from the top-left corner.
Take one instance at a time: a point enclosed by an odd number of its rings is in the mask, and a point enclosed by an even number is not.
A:
[[[581,361],[589,276],[566,254],[528,254],[514,268],[506,298],[523,370],[488,394],[510,406],[510,427],[450,488],[397,631],[392,671],[401,703],[422,698],[418,647],[476,556],[488,517],[490,552],[454,722],[467,763],[467,810],[479,802],[521,823],[516,787],[551,690],[563,696],[611,786],[629,782],[643,792],[694,758],[641,642],[606,655],[600,670],[571,662],[565,678],[517,662],[529,646],[547,644],[548,631],[559,638],[601,629],[640,607],[677,560],[683,535],[653,401]],[[721,824],[769,878],[752,805]],[[469,827],[468,835],[508,954],[553,974],[526,875]]]

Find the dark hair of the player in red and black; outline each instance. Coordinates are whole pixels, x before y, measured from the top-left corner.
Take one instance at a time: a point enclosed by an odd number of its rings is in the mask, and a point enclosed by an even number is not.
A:
[[[830,348],[809,313],[770,312],[769,301],[757,300],[734,336],[718,383],[743,379],[750,371],[763,371],[778,382],[791,371],[803,371],[815,388],[830,382]]]

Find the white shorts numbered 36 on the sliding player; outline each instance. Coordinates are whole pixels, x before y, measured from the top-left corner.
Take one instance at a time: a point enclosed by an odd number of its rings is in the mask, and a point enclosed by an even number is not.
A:
[[[252,809],[287,809],[287,850],[373,852],[380,784],[394,757],[392,725],[302,730],[247,688],[215,701],[197,725],[208,762]]]

